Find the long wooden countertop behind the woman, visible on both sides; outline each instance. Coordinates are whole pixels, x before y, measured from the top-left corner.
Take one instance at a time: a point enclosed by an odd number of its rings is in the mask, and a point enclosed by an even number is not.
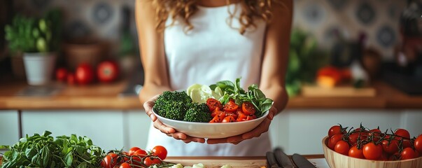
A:
[[[0,109],[143,109],[136,96],[120,97],[127,81],[63,87],[51,97],[22,97],[27,87],[22,81],[0,83]],[[422,109],[422,95],[410,96],[383,82],[373,83],[374,97],[304,97],[289,99],[287,109]]]

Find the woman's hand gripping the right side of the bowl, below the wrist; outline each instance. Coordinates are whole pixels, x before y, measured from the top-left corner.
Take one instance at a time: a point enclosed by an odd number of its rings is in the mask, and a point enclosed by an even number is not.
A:
[[[231,144],[239,144],[241,141],[244,141],[246,139],[252,139],[254,137],[260,137],[260,135],[264,132],[267,132],[269,129],[269,124],[271,124],[272,119],[274,116],[276,116],[277,109],[272,106],[271,109],[269,109],[269,113],[267,118],[260,123],[257,127],[255,127],[250,132],[246,132],[244,134],[240,134],[233,137],[227,137],[223,139],[208,139],[206,141],[207,144],[223,144],[223,143],[231,143]]]

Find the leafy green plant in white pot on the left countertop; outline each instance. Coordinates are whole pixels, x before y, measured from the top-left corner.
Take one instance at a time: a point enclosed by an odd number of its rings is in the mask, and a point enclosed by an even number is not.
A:
[[[22,53],[29,85],[50,83],[59,49],[59,24],[57,10],[50,10],[43,18],[15,15],[6,25],[6,41],[13,55]]]

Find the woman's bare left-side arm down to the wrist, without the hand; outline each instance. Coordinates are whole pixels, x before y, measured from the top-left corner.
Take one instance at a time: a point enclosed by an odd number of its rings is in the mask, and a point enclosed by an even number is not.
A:
[[[143,89],[139,94],[141,104],[144,104],[156,94],[170,90],[169,74],[164,56],[163,34],[155,29],[155,10],[151,3],[151,1],[139,0],[136,0],[135,3],[136,29],[145,73]]]

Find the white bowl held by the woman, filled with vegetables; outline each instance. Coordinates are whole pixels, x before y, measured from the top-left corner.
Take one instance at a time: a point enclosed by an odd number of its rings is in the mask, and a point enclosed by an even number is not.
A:
[[[174,128],[178,132],[187,134],[190,137],[206,139],[220,139],[243,134],[260,125],[260,123],[262,123],[262,121],[268,116],[268,111],[266,111],[260,118],[253,120],[234,123],[195,123],[181,120],[171,120],[169,118],[158,116],[158,114],[154,111],[153,113],[157,116],[161,123]]]

